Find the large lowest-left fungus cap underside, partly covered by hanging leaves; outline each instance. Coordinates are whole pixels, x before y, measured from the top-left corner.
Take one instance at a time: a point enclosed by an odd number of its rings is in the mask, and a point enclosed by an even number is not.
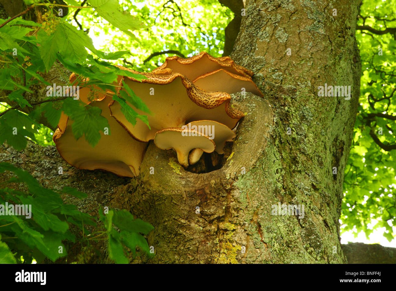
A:
[[[76,141],[72,133],[73,120],[70,119],[65,129],[62,129],[64,126],[58,126],[53,141],[62,158],[78,169],[103,169],[119,176],[135,177],[139,175],[139,167],[148,143],[133,139],[128,131],[110,116],[108,105],[111,100],[112,97],[106,95],[101,101],[90,103],[91,106],[102,109],[102,116],[107,118],[110,126],[110,134],[105,135],[101,132],[101,139],[95,147],[92,148],[84,136]],[[62,122],[64,124],[64,119]]]

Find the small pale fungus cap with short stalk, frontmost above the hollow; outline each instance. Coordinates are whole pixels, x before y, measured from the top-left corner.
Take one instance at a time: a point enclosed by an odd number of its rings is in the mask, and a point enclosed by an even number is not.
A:
[[[173,148],[177,153],[177,160],[183,167],[188,167],[188,154],[194,148],[204,152],[213,152],[215,143],[208,136],[200,135],[196,131],[185,130],[181,127],[166,128],[158,131],[154,143],[162,150]]]

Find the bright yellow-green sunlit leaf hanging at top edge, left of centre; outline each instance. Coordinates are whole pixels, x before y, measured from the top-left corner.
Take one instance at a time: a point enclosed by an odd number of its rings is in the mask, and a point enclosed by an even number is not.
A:
[[[115,27],[118,27],[123,32],[136,39],[135,35],[129,30],[143,29],[146,25],[132,16],[128,11],[120,12],[117,0],[89,0],[88,3],[95,7],[95,10],[101,17],[109,21]]]

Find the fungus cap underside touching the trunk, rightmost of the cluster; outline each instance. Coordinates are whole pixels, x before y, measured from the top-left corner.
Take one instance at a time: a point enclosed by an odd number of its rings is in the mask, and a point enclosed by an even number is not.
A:
[[[228,94],[241,92],[243,88],[245,92],[253,93],[257,96],[263,97],[256,84],[249,77],[244,77],[232,74],[224,69],[215,70],[202,76],[199,76],[192,81],[195,86],[204,89],[205,91],[221,91]]]

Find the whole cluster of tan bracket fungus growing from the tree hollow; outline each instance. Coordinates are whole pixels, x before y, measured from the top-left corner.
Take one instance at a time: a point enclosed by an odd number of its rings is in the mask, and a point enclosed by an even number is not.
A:
[[[61,114],[53,141],[61,156],[79,169],[103,169],[135,177],[150,140],[161,149],[173,148],[184,167],[198,162],[204,152],[223,154],[225,143],[235,138],[232,129],[244,116],[231,106],[230,94],[247,91],[263,96],[251,79],[253,72],[236,65],[230,57],[215,58],[204,52],[187,59],[168,57],[150,73],[117,67],[146,78],[139,81],[118,76],[114,91],[84,86],[88,81],[85,79],[79,90],[82,102],[102,110],[101,115],[109,122],[110,135],[101,132],[101,139],[92,148],[84,137],[76,141],[73,120],[64,112]],[[70,82],[76,78],[72,74]],[[131,99],[126,103],[137,114],[147,114],[150,127],[140,119],[131,124],[120,103],[112,98],[114,94],[129,95],[131,90],[150,114],[129,103]]]

